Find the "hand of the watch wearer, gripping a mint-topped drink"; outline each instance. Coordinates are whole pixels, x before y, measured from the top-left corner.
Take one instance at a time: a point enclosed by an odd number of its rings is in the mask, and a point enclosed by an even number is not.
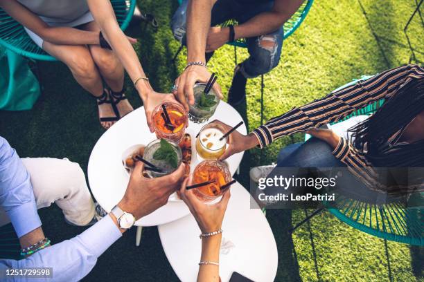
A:
[[[170,194],[177,191],[184,180],[184,166],[182,163],[168,176],[145,178],[142,173],[143,162],[136,162],[127,190],[118,207],[124,212],[130,212],[138,220],[166,205]]]

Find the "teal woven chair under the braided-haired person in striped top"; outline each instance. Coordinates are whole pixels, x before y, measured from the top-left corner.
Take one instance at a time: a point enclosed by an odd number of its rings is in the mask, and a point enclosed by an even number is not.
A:
[[[357,81],[368,79],[369,77],[371,76],[364,76],[340,88],[355,84]],[[335,91],[340,88],[337,88]],[[380,100],[374,104],[370,104],[363,109],[351,113],[351,115],[346,116],[343,120],[347,120],[355,115],[371,115],[375,113],[383,103],[384,100]],[[309,136],[306,136],[306,140],[308,140],[308,138]],[[414,199],[409,200],[423,203],[423,196],[423,194],[416,194],[414,195]],[[423,209],[421,207],[405,207],[405,203],[396,201],[383,205],[369,204],[346,196],[339,196],[336,203],[331,203],[331,205],[326,202],[323,204],[328,212],[339,218],[339,220],[342,220],[342,222],[362,232],[389,241],[410,245],[424,245],[424,218],[422,214]],[[310,216],[302,220],[301,223],[293,227],[291,231],[294,231],[294,229],[308,221],[312,216],[315,216],[323,209],[324,208],[317,209],[310,214]]]

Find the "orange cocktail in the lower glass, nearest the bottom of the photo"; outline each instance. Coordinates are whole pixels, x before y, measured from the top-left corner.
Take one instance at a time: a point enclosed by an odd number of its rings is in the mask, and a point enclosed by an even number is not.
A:
[[[193,185],[210,181],[215,182],[193,190],[200,200],[214,200],[222,195],[224,189],[221,187],[231,181],[231,173],[227,164],[218,160],[204,160],[197,164],[193,171]]]

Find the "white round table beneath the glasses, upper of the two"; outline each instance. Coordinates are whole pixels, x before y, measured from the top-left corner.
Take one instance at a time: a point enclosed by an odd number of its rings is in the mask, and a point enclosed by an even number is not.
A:
[[[209,121],[221,120],[235,126],[242,120],[240,114],[229,104],[220,102],[215,114]],[[193,160],[191,169],[197,165],[197,153],[195,152],[195,136],[204,124],[189,122],[186,133],[191,134]],[[237,129],[246,134],[246,126]],[[150,133],[143,107],[132,111],[124,118],[109,128],[91,151],[88,164],[88,179],[91,192],[103,209],[110,212],[112,208],[123,198],[130,176],[123,168],[122,154],[135,144],[148,144],[156,139],[154,133]],[[231,173],[235,173],[241,162],[243,153],[237,153],[227,159]],[[182,200],[168,201],[152,214],[144,216],[136,221],[137,226],[154,226],[169,223],[189,214],[189,210]],[[141,229],[139,230],[141,232]],[[141,233],[140,233],[141,236]]]

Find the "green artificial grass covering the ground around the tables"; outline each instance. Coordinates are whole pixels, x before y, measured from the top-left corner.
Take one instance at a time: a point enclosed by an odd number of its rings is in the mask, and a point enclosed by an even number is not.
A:
[[[157,91],[168,92],[182,71],[186,50],[177,62],[171,59],[178,43],[170,32],[170,17],[177,1],[139,1],[142,12],[155,15],[159,30],[136,26],[128,34],[139,38],[136,46],[143,68]],[[315,0],[299,30],[283,44],[281,62],[265,75],[265,120],[323,97],[361,75],[424,61],[424,32],[418,15],[409,26],[412,50],[403,33],[415,1]],[[424,8],[422,8],[422,13]],[[247,50],[237,48],[238,62]],[[422,63],[421,63],[422,64]],[[218,74],[224,95],[231,84],[234,49],[224,46],[209,64]],[[0,112],[0,135],[20,156],[67,157],[87,171],[89,154],[103,133],[95,101],[78,86],[60,62],[41,62],[44,91],[34,109]],[[134,107],[140,100],[127,79],[127,95]],[[227,98],[227,97],[225,97]],[[260,77],[249,79],[247,104],[238,110],[249,129],[260,125]],[[248,187],[250,167],[276,160],[281,147],[301,142],[302,134],[281,138],[265,150],[245,153],[238,180]],[[323,212],[294,234],[287,230],[310,210],[268,210],[279,248],[276,281],[424,281],[423,248],[385,242],[339,222]],[[40,212],[44,231],[57,243],[84,228],[69,227],[58,207]],[[156,227],[143,228],[141,247],[134,246],[135,229],[103,254],[85,281],[177,281],[161,247]]]

